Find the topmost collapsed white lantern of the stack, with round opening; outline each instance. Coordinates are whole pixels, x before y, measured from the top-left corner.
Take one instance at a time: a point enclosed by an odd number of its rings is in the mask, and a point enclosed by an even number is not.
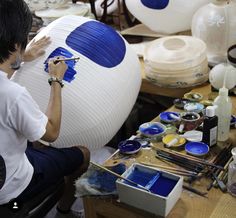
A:
[[[181,70],[206,59],[206,44],[192,36],[168,36],[154,40],[144,51],[144,60],[157,69]]]

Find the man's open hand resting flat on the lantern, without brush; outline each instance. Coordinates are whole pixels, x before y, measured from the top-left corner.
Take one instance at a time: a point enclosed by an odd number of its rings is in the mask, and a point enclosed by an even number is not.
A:
[[[30,44],[27,45],[25,54],[24,54],[24,61],[33,61],[36,58],[42,56],[45,51],[44,47],[49,45],[51,43],[50,37],[44,36],[43,38],[39,39],[38,41],[30,42]]]

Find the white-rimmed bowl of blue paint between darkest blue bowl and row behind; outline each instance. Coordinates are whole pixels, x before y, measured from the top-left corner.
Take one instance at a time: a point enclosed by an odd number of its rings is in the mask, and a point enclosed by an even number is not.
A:
[[[166,132],[166,127],[159,122],[148,122],[139,126],[139,131],[145,137],[157,138]]]

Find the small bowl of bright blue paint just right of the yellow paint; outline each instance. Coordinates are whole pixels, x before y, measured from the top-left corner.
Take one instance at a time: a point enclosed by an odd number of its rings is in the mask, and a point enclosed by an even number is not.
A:
[[[203,142],[188,142],[185,151],[193,156],[204,156],[209,152],[209,146]]]

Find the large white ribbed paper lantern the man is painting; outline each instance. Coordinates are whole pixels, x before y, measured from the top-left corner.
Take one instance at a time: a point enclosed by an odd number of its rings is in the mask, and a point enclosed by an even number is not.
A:
[[[13,79],[26,86],[45,111],[50,93],[45,61],[55,55],[79,56],[75,65],[70,62],[64,77],[62,125],[53,145],[102,147],[122,126],[136,101],[141,85],[137,55],[111,27],[84,17],[59,18],[35,38],[44,35],[52,41],[45,55],[25,63]]]

